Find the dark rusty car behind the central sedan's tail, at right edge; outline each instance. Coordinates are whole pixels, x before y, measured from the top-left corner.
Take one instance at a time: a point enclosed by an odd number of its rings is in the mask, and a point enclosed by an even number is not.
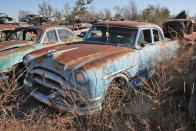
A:
[[[167,38],[183,38],[190,44],[196,41],[196,21],[191,19],[173,19],[163,23],[163,32]]]

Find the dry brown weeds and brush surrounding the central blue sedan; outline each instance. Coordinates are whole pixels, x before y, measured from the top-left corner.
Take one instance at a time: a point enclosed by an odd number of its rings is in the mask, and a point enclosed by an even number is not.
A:
[[[194,130],[187,118],[185,95],[192,51],[192,47],[182,48],[175,61],[158,65],[157,73],[132,91],[111,86],[113,93],[102,111],[89,116],[57,112],[37,102],[17,85],[18,77],[13,77],[0,85],[0,130]],[[136,103],[137,96],[141,103]],[[148,111],[143,111],[144,98],[152,104]],[[140,105],[139,111],[130,113],[130,103]]]

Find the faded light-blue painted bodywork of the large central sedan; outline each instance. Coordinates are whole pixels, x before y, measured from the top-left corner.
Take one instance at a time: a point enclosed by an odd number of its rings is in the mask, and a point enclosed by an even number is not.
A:
[[[149,69],[155,66],[157,62],[177,56],[176,52],[177,49],[179,48],[178,41],[167,41],[163,39],[161,41],[155,42],[154,38],[152,37],[151,38],[152,43],[147,44],[145,47],[141,48],[137,43],[138,43],[140,32],[145,29],[150,29],[152,34],[152,29],[157,29],[157,28],[153,28],[153,27],[138,28],[138,32],[134,42],[135,44],[133,47],[134,51],[132,52],[130,51],[130,53],[126,53],[116,58],[115,60],[112,60],[112,58],[111,59],[108,58],[108,56],[104,58],[101,56],[101,54],[100,56],[95,57],[93,56],[94,55],[93,54],[91,57],[88,57],[87,60],[83,61],[84,64],[79,63],[79,65],[77,65],[77,68],[75,66],[74,67],[67,66],[67,68],[65,68],[65,65],[74,63],[76,60],[72,60],[68,63],[64,63],[65,64],[64,65],[56,60],[58,56],[57,55],[58,51],[57,51],[57,53],[53,53],[52,56],[48,56],[48,57],[42,56],[31,60],[30,65],[27,66],[27,72],[32,73],[33,68],[35,67],[42,67],[43,69],[51,70],[52,72],[56,72],[57,74],[60,74],[63,78],[65,78],[67,80],[66,86],[72,89],[77,89],[87,100],[101,97],[102,98],[101,100],[96,101],[95,103],[90,103],[90,106],[92,107],[93,110],[94,109],[93,107],[97,107],[102,104],[105,98],[105,94],[108,91],[108,88],[112,80],[114,80],[115,78],[118,77],[124,78],[130,84],[129,85],[130,89],[134,88],[142,82],[142,80],[140,79],[141,77],[143,79],[147,79],[153,75],[155,70],[153,69],[149,70]],[[161,35],[164,38],[162,30],[160,28],[158,30],[161,32]],[[151,36],[153,36],[153,34]],[[123,48],[130,48],[130,47],[123,47]],[[89,48],[89,50],[90,49],[91,48]],[[71,56],[65,55],[65,57],[71,57]],[[98,60],[100,57],[103,60],[107,59],[107,62],[105,62],[104,64],[97,63],[97,65],[99,65],[98,67],[95,66],[89,69],[85,69],[85,65],[91,64],[91,62]],[[58,69],[56,67],[58,67]],[[87,74],[88,76],[87,85],[83,86],[75,81],[75,72],[78,70],[83,70]],[[112,75],[111,77],[107,77],[113,73],[115,74]]]

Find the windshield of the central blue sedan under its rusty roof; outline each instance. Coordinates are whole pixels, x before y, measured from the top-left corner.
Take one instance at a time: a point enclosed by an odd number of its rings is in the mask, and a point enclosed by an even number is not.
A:
[[[136,33],[134,28],[93,26],[84,41],[133,47]]]

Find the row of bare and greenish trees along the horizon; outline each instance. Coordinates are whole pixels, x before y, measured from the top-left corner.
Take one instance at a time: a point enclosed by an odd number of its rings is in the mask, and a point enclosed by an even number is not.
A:
[[[124,20],[140,20],[148,21],[161,25],[168,20],[170,11],[166,7],[148,5],[145,9],[139,10],[134,0],[130,0],[125,6],[115,6],[112,9],[104,8],[97,10],[91,6],[93,0],[77,0],[74,6],[70,3],[65,3],[62,10],[53,8],[48,2],[43,0],[38,5],[38,14],[43,17],[48,17],[55,22],[74,23],[76,18],[104,18],[104,19],[124,19]],[[34,14],[27,10],[20,10],[18,18],[22,18],[28,14]]]

